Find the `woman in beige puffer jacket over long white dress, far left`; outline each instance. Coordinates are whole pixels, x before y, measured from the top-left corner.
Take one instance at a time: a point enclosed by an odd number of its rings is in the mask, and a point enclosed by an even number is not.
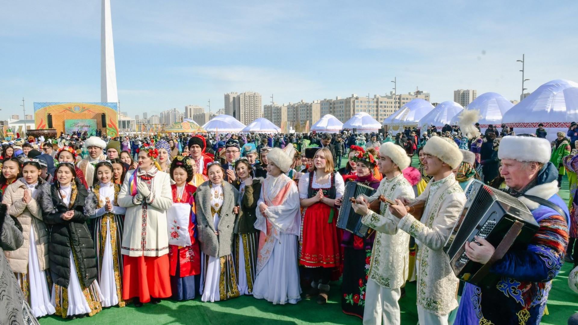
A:
[[[44,180],[39,178],[40,170],[46,167],[38,159],[25,160],[23,177],[10,184],[2,198],[8,213],[16,217],[22,225],[24,245],[17,250],[6,251],[6,257],[20,283],[24,299],[36,317],[55,312],[50,301],[47,283],[48,231],[42,217],[37,188]]]

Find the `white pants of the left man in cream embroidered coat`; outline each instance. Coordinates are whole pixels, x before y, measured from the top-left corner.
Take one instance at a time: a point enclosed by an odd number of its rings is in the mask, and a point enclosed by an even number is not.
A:
[[[401,323],[399,297],[401,289],[382,287],[369,279],[365,290],[364,325],[399,325]]]

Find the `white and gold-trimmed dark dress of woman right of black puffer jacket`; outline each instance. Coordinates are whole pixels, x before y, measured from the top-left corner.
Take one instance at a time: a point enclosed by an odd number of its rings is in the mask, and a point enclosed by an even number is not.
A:
[[[123,256],[120,253],[123,240],[123,223],[126,208],[118,206],[120,185],[99,183],[92,188],[97,197],[97,213],[93,217],[94,250],[97,256],[98,283],[101,287],[103,307],[124,307],[122,294]],[[112,202],[111,212],[106,212],[106,202]]]

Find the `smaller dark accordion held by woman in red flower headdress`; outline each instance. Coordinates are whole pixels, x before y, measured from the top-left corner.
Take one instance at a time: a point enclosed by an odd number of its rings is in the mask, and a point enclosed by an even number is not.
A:
[[[343,193],[343,203],[341,208],[339,208],[339,216],[337,217],[336,226],[340,229],[347,230],[354,235],[358,235],[359,237],[367,237],[369,234],[369,227],[361,223],[361,217],[363,216],[355,213],[353,208],[351,208],[351,202],[349,199],[357,198],[361,194],[369,197],[373,195],[375,191],[375,189],[365,184],[347,182]]]

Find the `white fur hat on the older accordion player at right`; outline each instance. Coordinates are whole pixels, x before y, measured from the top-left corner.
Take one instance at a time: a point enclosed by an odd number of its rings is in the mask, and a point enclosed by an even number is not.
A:
[[[536,161],[542,164],[550,161],[550,155],[550,142],[535,136],[504,136],[498,149],[500,159]]]

